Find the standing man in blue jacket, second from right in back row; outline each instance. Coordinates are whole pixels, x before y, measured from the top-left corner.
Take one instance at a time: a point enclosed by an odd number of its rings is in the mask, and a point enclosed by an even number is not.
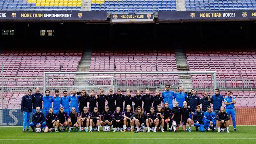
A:
[[[211,103],[213,104],[212,108],[213,108],[213,113],[215,114],[215,117],[221,110],[221,106],[222,106],[221,101],[224,102],[224,97],[220,95],[219,89],[215,89],[215,95],[211,96]]]

